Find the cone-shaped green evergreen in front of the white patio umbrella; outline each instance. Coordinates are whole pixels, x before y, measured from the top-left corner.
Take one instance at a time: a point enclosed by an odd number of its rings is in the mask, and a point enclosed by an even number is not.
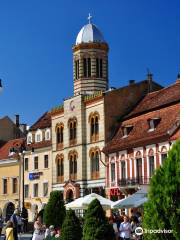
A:
[[[115,239],[112,225],[108,223],[100,202],[93,200],[85,214],[83,240],[113,240]]]

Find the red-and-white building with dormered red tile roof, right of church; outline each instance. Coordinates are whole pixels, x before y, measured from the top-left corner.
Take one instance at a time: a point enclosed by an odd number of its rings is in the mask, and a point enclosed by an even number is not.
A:
[[[103,152],[107,156],[106,192],[121,199],[147,187],[180,137],[180,78],[175,84],[149,93],[121,121]]]

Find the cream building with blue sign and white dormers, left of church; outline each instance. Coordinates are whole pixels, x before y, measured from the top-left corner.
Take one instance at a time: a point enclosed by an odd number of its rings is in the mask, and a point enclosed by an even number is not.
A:
[[[48,202],[52,191],[51,115],[43,114],[27,134],[24,154],[24,204],[29,220]]]

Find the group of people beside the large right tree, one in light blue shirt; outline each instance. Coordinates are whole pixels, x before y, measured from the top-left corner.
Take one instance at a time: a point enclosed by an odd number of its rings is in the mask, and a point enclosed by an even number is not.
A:
[[[136,234],[136,228],[142,224],[142,216],[140,212],[131,212],[131,217],[127,215],[112,216],[109,218],[112,224],[116,240],[140,240],[141,235]]]

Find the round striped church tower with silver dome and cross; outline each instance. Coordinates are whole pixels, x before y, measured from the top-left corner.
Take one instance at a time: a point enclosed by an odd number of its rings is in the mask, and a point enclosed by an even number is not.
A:
[[[108,89],[109,47],[91,18],[89,15],[89,23],[80,30],[73,46],[74,95]]]

